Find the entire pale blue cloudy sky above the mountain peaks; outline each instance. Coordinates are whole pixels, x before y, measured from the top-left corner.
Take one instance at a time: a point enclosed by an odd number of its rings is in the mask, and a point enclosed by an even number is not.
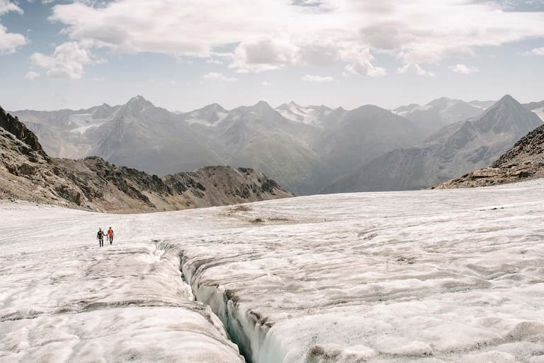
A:
[[[544,0],[0,0],[0,106],[544,100]]]

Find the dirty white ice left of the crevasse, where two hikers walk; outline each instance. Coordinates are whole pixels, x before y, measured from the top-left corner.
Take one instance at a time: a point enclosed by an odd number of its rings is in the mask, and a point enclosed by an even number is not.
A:
[[[244,362],[157,217],[0,203],[0,362]]]

